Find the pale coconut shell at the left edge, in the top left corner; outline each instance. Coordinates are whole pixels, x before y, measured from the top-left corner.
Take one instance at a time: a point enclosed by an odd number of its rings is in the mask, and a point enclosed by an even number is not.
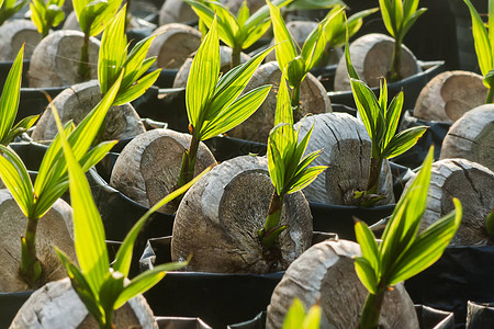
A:
[[[23,44],[24,58],[30,58],[42,35],[33,22],[11,20],[0,26],[0,61],[14,60]]]

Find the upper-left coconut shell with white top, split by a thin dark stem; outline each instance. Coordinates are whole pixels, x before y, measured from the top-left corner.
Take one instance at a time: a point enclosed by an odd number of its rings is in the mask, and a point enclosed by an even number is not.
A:
[[[30,87],[72,86],[79,81],[79,61],[83,33],[59,30],[46,36],[34,49],[29,70]],[[89,63],[91,79],[98,78],[98,53],[100,42],[89,38]]]

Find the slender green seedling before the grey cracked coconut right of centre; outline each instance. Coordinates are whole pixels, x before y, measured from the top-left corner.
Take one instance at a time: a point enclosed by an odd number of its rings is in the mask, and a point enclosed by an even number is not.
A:
[[[372,143],[367,188],[366,191],[356,191],[355,197],[360,200],[361,205],[372,205],[382,197],[377,192],[384,159],[396,157],[408,150],[417,143],[417,139],[422,137],[427,127],[416,126],[396,134],[403,107],[403,91],[396,94],[391,103],[388,104],[388,84],[383,78],[380,82],[380,95],[378,100],[374,92],[360,80],[351,65],[348,48],[347,39],[345,59],[350,77],[353,100]]]

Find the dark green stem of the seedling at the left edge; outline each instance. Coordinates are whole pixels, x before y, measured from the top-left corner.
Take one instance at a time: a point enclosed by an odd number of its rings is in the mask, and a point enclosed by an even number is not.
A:
[[[37,220],[27,218],[24,237],[21,237],[21,274],[33,286],[41,276],[41,262],[36,257],[36,227]]]

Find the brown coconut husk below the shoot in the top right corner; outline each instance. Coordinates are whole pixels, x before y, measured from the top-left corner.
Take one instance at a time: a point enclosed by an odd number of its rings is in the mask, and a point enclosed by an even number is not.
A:
[[[483,78],[468,71],[446,71],[420,91],[414,116],[425,121],[453,123],[465,112],[484,104],[487,88]]]

